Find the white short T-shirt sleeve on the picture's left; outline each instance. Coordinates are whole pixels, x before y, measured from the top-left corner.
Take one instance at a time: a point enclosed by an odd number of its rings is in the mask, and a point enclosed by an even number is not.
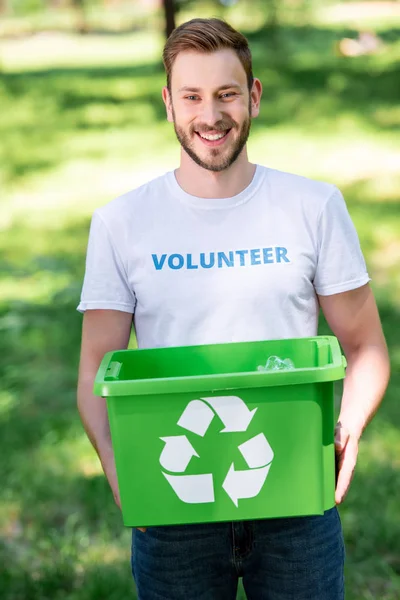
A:
[[[135,295],[116,245],[101,216],[95,212],[90,226],[80,312],[112,309],[133,313]]]

